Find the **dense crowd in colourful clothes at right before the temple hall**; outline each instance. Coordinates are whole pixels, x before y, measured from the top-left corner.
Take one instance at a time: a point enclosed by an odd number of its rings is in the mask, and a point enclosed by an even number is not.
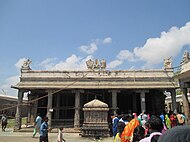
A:
[[[190,141],[190,126],[186,125],[187,117],[182,113],[112,114],[111,119],[114,142]]]

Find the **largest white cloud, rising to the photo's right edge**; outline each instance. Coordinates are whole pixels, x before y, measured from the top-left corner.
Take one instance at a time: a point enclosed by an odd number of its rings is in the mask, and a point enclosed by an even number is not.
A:
[[[172,27],[158,38],[149,38],[143,47],[136,47],[136,58],[152,66],[168,57],[176,57],[185,45],[190,45],[190,22],[181,28]]]

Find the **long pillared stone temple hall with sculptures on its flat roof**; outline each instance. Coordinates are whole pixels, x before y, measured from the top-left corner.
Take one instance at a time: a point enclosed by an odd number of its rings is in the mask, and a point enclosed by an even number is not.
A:
[[[32,70],[28,59],[21,67],[15,128],[21,128],[20,110],[23,93],[28,92],[30,121],[37,112],[49,117],[49,126],[80,128],[84,104],[97,98],[108,104],[110,113],[146,111],[160,114],[164,111],[165,95],[171,92],[176,109],[174,72],[171,60],[164,60],[163,69],[106,70],[105,60],[88,60],[86,70]]]

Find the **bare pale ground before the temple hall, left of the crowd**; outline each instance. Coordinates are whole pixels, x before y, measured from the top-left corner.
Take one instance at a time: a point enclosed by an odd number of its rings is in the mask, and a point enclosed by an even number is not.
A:
[[[66,142],[96,142],[94,138],[80,137],[78,133],[64,133]],[[56,142],[57,133],[49,133],[49,142]],[[5,132],[0,131],[0,142],[38,142],[39,134],[32,138],[32,132],[13,132],[13,129],[6,129]],[[112,137],[103,138],[100,142],[113,142]]]

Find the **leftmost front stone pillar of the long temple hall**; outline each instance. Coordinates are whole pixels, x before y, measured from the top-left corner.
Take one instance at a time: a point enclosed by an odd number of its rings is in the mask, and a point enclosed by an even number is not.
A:
[[[21,124],[22,124],[22,118],[21,118],[22,100],[23,100],[23,90],[19,90],[18,91],[18,103],[17,103],[16,115],[15,115],[14,131],[21,129]]]

